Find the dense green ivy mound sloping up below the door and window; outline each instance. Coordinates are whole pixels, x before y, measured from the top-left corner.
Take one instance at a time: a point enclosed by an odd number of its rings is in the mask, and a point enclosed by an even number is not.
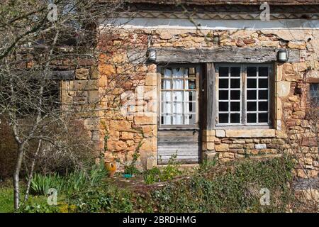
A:
[[[286,211],[291,198],[287,185],[293,161],[280,157],[267,161],[247,160],[230,170],[214,170],[213,177],[198,173],[152,192],[160,212],[267,212]],[[270,191],[270,206],[259,202],[260,189]]]

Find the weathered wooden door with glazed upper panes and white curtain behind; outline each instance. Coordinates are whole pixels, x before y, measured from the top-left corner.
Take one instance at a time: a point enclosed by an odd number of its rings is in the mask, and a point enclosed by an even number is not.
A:
[[[199,65],[169,65],[158,73],[157,162],[197,163],[200,150]]]

